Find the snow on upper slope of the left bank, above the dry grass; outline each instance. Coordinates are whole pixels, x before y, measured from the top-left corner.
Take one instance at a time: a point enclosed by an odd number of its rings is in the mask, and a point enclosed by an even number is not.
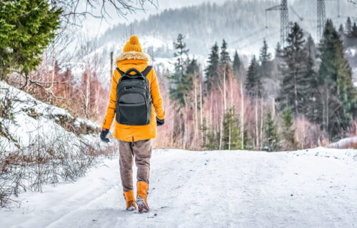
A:
[[[76,135],[69,132],[64,126],[59,125],[59,122],[66,121],[70,124],[73,120],[74,128],[80,128],[80,125],[91,128],[92,131],[100,129],[100,126],[90,120],[74,118],[67,110],[58,108],[54,105],[49,105],[37,100],[28,93],[16,89],[8,84],[0,81],[0,100],[5,98],[6,91],[9,91],[9,98],[13,101],[11,104],[11,113],[14,113],[14,121],[0,118],[4,128],[8,129],[8,133],[14,140],[0,135],[1,149],[5,152],[14,152],[19,148],[28,147],[34,140],[44,140],[47,143],[60,144],[64,141],[69,142],[69,151],[76,152],[73,145],[78,145],[79,142],[86,142],[90,145],[100,145],[99,134],[81,134]],[[61,139],[61,140],[59,140]]]

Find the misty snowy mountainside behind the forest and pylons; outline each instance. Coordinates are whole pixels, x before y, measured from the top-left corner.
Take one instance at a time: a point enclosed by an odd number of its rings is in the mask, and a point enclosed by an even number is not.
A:
[[[271,48],[276,46],[280,37],[280,14],[265,9],[276,6],[280,1],[226,1],[223,4],[201,4],[180,9],[168,9],[160,14],[149,16],[146,20],[131,24],[117,24],[106,31],[99,43],[122,44],[135,33],[141,38],[154,38],[155,56],[169,57],[171,45],[178,35],[186,36],[191,53],[206,55],[208,48],[223,38],[228,47],[240,53],[257,53],[263,38]],[[291,7],[292,6],[292,7]],[[289,20],[299,21],[308,33],[316,36],[316,1],[296,0],[289,6]],[[332,18],[336,26],[346,21],[346,16],[356,14],[357,5],[340,2],[338,14],[337,1],[326,1],[326,17]],[[293,9],[293,10],[292,10]],[[338,17],[338,15],[340,17]],[[302,19],[302,20],[301,20]],[[266,28],[268,26],[268,28]],[[149,48],[150,42],[146,43]],[[157,49],[160,47],[160,50]],[[153,51],[153,50],[151,50]]]

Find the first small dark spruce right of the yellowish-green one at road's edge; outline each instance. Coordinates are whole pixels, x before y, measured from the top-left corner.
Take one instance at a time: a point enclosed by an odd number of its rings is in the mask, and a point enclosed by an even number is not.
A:
[[[281,148],[280,138],[278,136],[276,123],[271,116],[271,112],[266,114],[265,126],[265,142],[263,143],[263,150],[268,152],[278,151]]]

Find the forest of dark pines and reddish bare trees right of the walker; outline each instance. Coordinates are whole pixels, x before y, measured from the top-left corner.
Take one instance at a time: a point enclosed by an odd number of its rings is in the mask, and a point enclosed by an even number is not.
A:
[[[357,38],[348,19],[339,30],[326,21],[316,45],[298,23],[286,47],[259,56],[247,69],[225,40],[214,43],[201,71],[188,57],[184,36],[174,42],[175,72],[169,74],[169,144],[211,150],[296,150],[356,134],[357,90],[344,56],[343,39]]]

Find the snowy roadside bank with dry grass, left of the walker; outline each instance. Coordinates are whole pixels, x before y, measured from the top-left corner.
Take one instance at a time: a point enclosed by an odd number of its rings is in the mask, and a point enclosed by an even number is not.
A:
[[[116,152],[114,140],[101,142],[100,130],[0,81],[0,207],[19,206],[23,192],[72,182],[97,157]]]

